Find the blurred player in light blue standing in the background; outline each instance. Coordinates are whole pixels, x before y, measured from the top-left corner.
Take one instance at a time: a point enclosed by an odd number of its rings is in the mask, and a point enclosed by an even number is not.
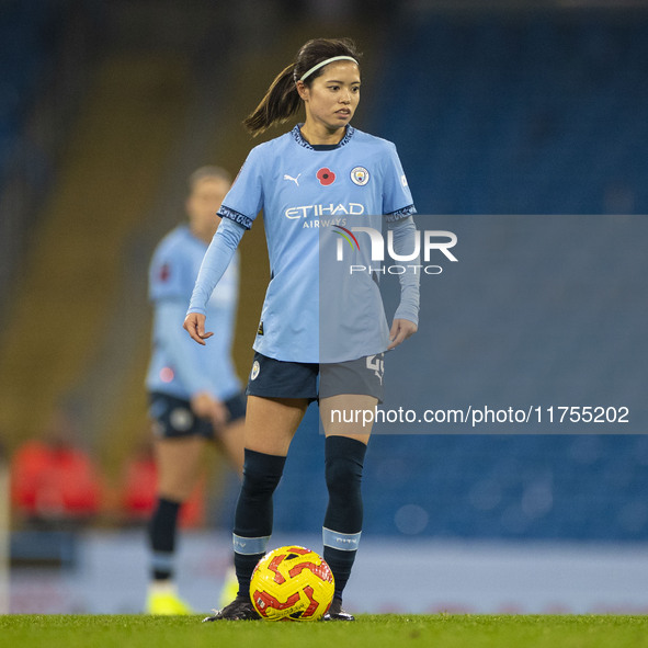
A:
[[[220,331],[206,349],[182,330],[201,261],[216,231],[216,215],[231,184],[219,167],[189,179],[187,225],[157,247],[149,270],[154,304],[152,357],[147,375],[158,467],[158,502],[149,525],[150,586],[146,612],[187,614],[174,583],[178,515],[201,476],[207,441],[214,441],[239,474],[243,462],[245,395],[231,360],[238,300],[238,258],[206,305]]]

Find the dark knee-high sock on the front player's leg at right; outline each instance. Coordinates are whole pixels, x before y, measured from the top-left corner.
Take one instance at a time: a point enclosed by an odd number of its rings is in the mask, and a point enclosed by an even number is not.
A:
[[[351,576],[362,531],[362,468],[366,445],[348,436],[326,440],[329,505],[323,523],[323,558],[336,579],[336,596]]]

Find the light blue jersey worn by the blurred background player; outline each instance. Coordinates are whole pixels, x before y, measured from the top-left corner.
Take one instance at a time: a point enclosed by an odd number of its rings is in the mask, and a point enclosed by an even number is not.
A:
[[[206,346],[182,329],[207,245],[189,226],[179,226],[158,245],[149,268],[149,298],[154,304],[152,355],[146,386],[177,398],[208,391],[226,400],[241,389],[231,360],[238,302],[239,261],[235,254],[206,305],[211,330]]]

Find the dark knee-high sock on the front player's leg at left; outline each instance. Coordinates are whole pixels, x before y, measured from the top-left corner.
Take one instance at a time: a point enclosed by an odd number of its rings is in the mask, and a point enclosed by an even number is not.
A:
[[[286,457],[246,448],[243,482],[234,519],[234,566],[239,596],[249,596],[252,571],[265,554],[272,534],[272,493],[285,463]]]

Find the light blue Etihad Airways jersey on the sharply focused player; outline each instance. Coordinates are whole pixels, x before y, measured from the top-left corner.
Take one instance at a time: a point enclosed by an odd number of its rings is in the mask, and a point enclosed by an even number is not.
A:
[[[380,353],[389,329],[377,285],[371,274],[340,285],[334,264],[329,276],[325,250],[327,262],[334,258],[320,232],[351,225],[380,231],[383,215],[416,212],[396,147],[351,126],[336,147],[312,147],[299,126],[250,151],[218,212],[249,228],[263,209],[271,282],[253,346],[307,363]]]

